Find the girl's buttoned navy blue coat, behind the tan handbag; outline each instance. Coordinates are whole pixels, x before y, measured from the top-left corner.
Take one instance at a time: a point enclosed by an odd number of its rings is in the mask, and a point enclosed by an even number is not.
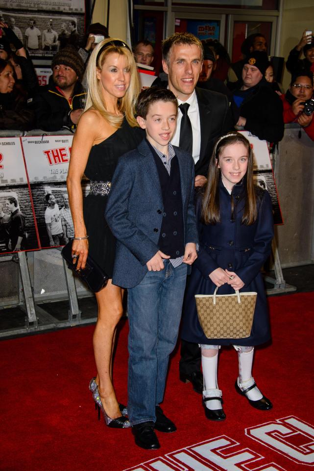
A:
[[[266,294],[260,272],[271,251],[273,238],[273,216],[271,199],[267,191],[257,189],[258,218],[250,226],[241,224],[245,203],[243,184],[232,190],[235,201],[234,218],[231,218],[231,197],[219,183],[220,223],[202,224],[200,211],[202,195],[196,201],[200,251],[193,263],[191,279],[184,303],[181,337],[194,343],[209,345],[253,346],[270,339]],[[216,268],[234,271],[241,278],[244,287],[240,291],[256,291],[257,300],[250,337],[245,339],[207,339],[198,321],[195,294],[213,294],[216,285],[209,274]],[[224,284],[218,294],[232,294],[234,289]]]

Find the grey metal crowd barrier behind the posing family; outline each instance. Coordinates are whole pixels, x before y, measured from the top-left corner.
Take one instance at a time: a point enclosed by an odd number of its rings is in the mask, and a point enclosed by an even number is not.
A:
[[[0,136],[69,134],[69,131],[43,132],[33,130],[0,131]],[[274,173],[284,218],[276,226],[273,241],[275,277],[266,277],[273,285],[267,293],[295,290],[287,285],[282,266],[314,262],[314,143],[299,126],[287,125],[283,140],[273,156]],[[0,338],[47,329],[62,328],[96,321],[82,319],[78,300],[93,295],[62,260],[60,250],[44,249],[0,256],[0,318],[1,309],[19,307],[25,313],[21,327],[0,330]],[[59,320],[41,307],[43,303],[66,301],[68,318]]]

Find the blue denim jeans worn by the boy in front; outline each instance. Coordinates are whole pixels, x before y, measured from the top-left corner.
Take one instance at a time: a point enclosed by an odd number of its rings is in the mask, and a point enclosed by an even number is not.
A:
[[[156,420],[155,407],[164,397],[169,355],[178,337],[187,265],[173,268],[168,260],[164,265],[128,289],[127,409],[132,425]]]

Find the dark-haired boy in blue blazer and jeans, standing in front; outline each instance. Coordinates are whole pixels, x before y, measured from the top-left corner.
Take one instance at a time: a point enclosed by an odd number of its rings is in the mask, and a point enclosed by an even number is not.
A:
[[[105,216],[118,239],[113,283],[128,289],[128,415],[135,443],[157,449],[154,429],[176,430],[159,404],[177,340],[187,265],[197,257],[194,163],[169,143],[177,117],[170,90],[144,90],[137,111],[146,138],[120,158]]]

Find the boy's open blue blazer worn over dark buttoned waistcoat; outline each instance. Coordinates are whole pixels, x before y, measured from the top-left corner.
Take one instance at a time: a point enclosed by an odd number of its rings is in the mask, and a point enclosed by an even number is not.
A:
[[[198,242],[194,209],[194,161],[173,146],[178,158],[184,244]],[[122,288],[137,286],[147,273],[146,262],[159,250],[163,197],[152,152],[144,139],[134,151],[120,157],[116,167],[105,217],[117,238],[112,281]]]

